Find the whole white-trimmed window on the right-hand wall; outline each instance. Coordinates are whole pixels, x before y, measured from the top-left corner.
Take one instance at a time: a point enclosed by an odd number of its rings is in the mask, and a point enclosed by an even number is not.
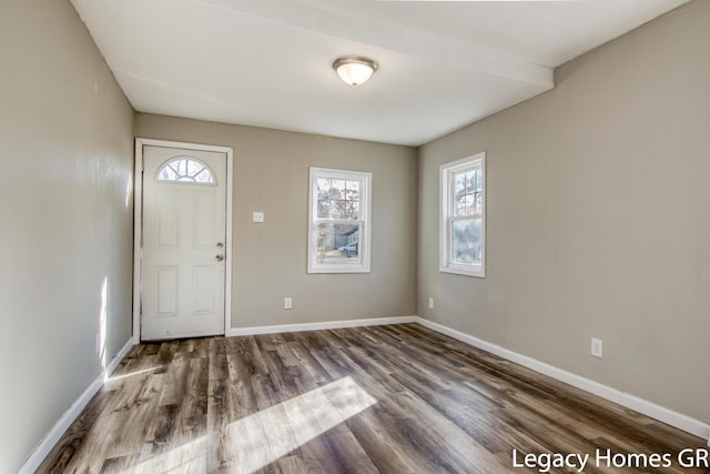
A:
[[[439,168],[439,270],[486,276],[486,153]]]

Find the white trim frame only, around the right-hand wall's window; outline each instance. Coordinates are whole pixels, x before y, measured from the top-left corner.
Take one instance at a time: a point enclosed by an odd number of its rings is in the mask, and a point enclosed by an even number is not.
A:
[[[462,170],[473,168],[480,163],[483,172],[483,219],[481,219],[481,258],[480,264],[454,263],[450,259],[450,220],[452,220],[452,180],[450,177]],[[439,167],[439,271],[466,276],[486,276],[486,152],[480,152],[462,160],[444,163]]]

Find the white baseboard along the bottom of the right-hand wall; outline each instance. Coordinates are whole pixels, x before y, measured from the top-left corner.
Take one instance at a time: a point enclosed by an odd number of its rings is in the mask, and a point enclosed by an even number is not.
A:
[[[499,357],[506,359],[510,362],[515,362],[516,364],[520,364],[525,367],[548,375],[560,382],[576,386],[577,389],[581,389],[585,392],[592,393],[597,396],[600,396],[601,399],[618,403],[619,405],[642,413],[647,416],[682,430],[687,433],[700,436],[704,440],[708,440],[710,436],[710,424],[701,422],[700,420],[692,418],[688,415],[683,415],[682,413],[666,409],[665,406],[660,406],[656,403],[649,402],[648,400],[639,399],[638,396],[631,395],[629,393],[620,392],[610,386],[555,367],[552,365],[546,364],[545,362],[528,357],[527,355],[518,354],[517,352],[513,352],[499,345],[491,344],[473,335],[453,330],[433,321],[428,321],[417,316],[416,322],[430,330],[457,339],[462,342],[465,342],[466,344],[473,345],[474,347],[490,352],[491,354],[498,355]]]

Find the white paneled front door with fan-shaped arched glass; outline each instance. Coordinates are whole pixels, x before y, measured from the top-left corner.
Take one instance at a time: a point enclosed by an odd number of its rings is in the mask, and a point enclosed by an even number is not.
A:
[[[226,154],[143,145],[141,340],[224,334]]]

